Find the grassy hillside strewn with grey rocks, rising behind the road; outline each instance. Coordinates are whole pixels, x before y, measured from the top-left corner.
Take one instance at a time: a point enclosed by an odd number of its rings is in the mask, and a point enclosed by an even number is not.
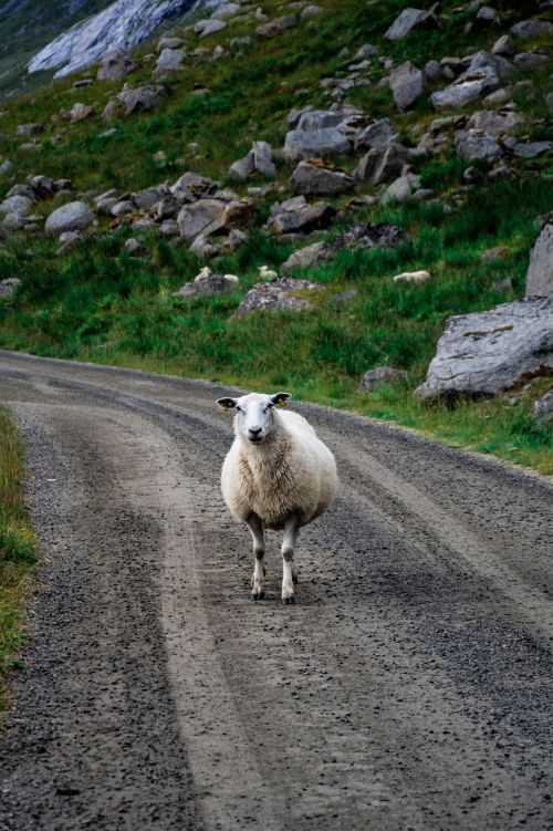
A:
[[[290,388],[547,469],[547,361],[453,408],[413,392],[448,316],[524,297],[553,209],[549,3],[445,0],[385,37],[406,7],[242,2],[212,34],[177,29],[157,69],[154,41],[117,80],[10,101],[0,187],[23,201],[2,204],[0,280],[21,282],[0,346]],[[75,201],[82,230],[44,232]],[[221,277],[192,284],[206,264]],[[261,266],[314,285],[237,315]],[[359,386],[383,365],[404,374]]]

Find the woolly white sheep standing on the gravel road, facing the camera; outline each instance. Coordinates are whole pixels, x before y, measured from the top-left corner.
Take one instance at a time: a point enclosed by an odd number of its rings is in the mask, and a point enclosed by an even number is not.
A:
[[[284,530],[282,602],[294,603],[294,549],[302,526],[328,508],[336,495],[336,463],[299,413],[281,413],[290,393],[250,393],[219,398],[234,411],[234,442],[225,459],[221,490],[231,513],[253,540],[253,600],[264,598],[264,529]]]

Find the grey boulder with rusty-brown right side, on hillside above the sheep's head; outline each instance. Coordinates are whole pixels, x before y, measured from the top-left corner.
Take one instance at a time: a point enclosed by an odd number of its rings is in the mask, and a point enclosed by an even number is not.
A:
[[[200,233],[209,237],[232,228],[243,228],[251,225],[255,217],[255,207],[249,199],[229,202],[219,199],[198,199],[185,205],[177,216],[177,224],[180,236],[187,242],[191,242]]]

